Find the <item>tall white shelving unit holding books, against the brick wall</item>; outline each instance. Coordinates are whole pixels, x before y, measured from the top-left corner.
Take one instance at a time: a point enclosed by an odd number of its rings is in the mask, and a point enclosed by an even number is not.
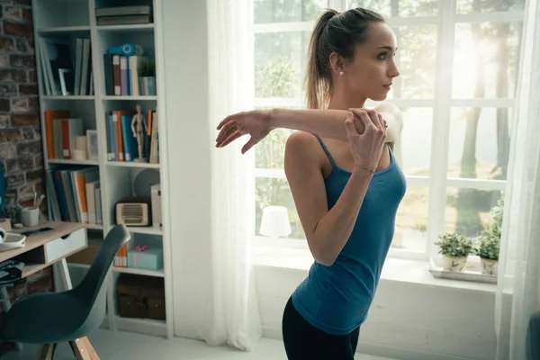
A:
[[[161,0],[153,0],[153,23],[134,25],[97,26],[94,9],[105,6],[107,0],[32,0],[32,13],[34,22],[34,42],[36,48],[36,67],[40,94],[40,117],[43,139],[43,152],[45,169],[70,168],[70,166],[97,166],[102,189],[103,225],[87,224],[88,231],[103,232],[103,238],[114,226],[113,206],[122,198],[132,196],[132,180],[140,171],[150,168],[159,172],[162,193],[162,228],[130,228],[132,240],[149,241],[163,247],[164,268],[160,271],[148,271],[134,268],[121,268],[112,266],[108,274],[107,316],[103,327],[114,330],[139,332],[148,335],[171,338],[173,336],[173,303],[171,266],[169,264],[170,239],[168,226],[168,196],[167,196],[167,154],[166,136],[159,137],[159,164],[141,164],[135,162],[112,162],[107,157],[107,119],[105,112],[111,110],[135,110],[139,104],[143,113],[157,108],[159,133],[166,133],[166,115],[161,109],[166,108],[163,74],[163,49],[161,20]],[[114,4],[117,4],[115,2]],[[125,4],[130,4],[126,1]],[[43,38],[72,40],[76,37],[90,39],[92,49],[92,69],[94,76],[94,94],[92,95],[48,95],[43,81],[40,61],[40,41]],[[141,44],[144,57],[156,61],[157,96],[112,96],[105,93],[105,79],[103,67],[103,53],[105,49],[119,46],[123,42]],[[74,47],[74,45],[72,45]],[[75,49],[75,48],[73,48]],[[75,61],[74,61],[75,62]],[[96,130],[99,144],[99,159],[97,161],[74,161],[47,158],[47,136],[45,134],[45,121],[43,112],[54,109],[69,109],[71,117],[83,119],[85,130]],[[89,266],[85,264],[69,264],[73,284],[76,285],[85,275]],[[140,276],[153,276],[163,278],[165,281],[166,320],[126,319],[121,318],[117,311],[116,283],[119,275],[132,274]]]

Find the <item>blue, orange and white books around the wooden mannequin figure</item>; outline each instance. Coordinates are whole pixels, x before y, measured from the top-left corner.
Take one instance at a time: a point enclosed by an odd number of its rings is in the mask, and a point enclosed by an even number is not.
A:
[[[109,161],[135,161],[139,157],[139,142],[134,130],[137,129],[137,121],[134,110],[118,110],[105,114],[108,119],[107,126],[107,157]],[[157,127],[157,111],[149,110],[146,114],[141,113],[142,142],[141,156],[150,164],[159,163],[159,129]]]

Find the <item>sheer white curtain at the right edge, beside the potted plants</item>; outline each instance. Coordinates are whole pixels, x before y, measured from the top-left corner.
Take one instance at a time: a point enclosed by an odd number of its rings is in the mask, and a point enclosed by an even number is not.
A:
[[[509,178],[495,304],[497,360],[526,358],[527,325],[540,310],[540,6],[527,0],[512,120]]]

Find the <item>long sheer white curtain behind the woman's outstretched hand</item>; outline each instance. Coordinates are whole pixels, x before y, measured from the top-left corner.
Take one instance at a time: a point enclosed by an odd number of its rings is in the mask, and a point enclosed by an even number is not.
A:
[[[250,245],[255,235],[255,150],[238,139],[215,148],[216,126],[253,108],[253,0],[207,0],[211,146],[211,304],[202,324],[209,345],[250,351],[261,337]],[[189,55],[187,55],[189,56]],[[193,71],[204,71],[196,69]],[[199,119],[193,119],[199,121]]]

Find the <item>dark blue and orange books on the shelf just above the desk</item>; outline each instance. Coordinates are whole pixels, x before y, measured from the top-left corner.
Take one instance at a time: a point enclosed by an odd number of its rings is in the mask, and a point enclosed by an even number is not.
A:
[[[49,169],[46,183],[51,220],[103,224],[97,166]]]

